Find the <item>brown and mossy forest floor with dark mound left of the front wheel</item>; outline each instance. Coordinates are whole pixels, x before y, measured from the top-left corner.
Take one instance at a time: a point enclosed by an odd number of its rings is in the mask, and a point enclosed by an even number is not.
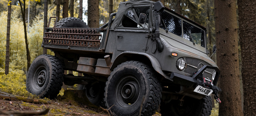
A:
[[[48,109],[48,116],[108,116],[108,112],[88,102],[87,98],[78,97],[72,90],[64,92],[55,100],[48,100],[50,104],[34,104],[22,100],[0,99],[0,116],[27,116],[29,113],[42,112]]]

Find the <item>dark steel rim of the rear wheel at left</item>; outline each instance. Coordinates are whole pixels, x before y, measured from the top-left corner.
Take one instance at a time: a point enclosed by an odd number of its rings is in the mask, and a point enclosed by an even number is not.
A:
[[[46,67],[44,66],[37,67],[33,76],[34,88],[36,88],[37,90],[41,89],[44,86],[47,78],[48,77],[47,77]]]

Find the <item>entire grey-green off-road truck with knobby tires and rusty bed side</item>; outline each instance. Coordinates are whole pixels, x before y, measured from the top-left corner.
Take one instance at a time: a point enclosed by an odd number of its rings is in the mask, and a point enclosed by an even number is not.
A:
[[[220,71],[208,57],[206,40],[205,27],[161,2],[121,2],[100,28],[88,28],[78,18],[48,26],[42,47],[55,56],[32,62],[26,87],[55,98],[63,82],[84,85],[88,99],[114,116],[149,116],[159,106],[163,116],[209,116],[209,95],[220,101]]]

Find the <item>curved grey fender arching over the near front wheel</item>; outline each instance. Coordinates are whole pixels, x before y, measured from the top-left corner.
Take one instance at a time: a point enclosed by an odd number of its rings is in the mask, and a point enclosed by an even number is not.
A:
[[[112,63],[110,70],[113,71],[119,64],[126,61],[140,61],[145,64],[150,64],[149,66],[153,67],[158,74],[165,78],[167,77],[166,74],[163,73],[160,63],[154,56],[141,52],[124,51],[120,53]]]

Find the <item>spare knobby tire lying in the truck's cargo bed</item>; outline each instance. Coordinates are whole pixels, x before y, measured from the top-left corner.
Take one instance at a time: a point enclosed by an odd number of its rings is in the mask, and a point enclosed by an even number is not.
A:
[[[79,18],[68,17],[58,21],[56,28],[88,28],[88,26]]]

